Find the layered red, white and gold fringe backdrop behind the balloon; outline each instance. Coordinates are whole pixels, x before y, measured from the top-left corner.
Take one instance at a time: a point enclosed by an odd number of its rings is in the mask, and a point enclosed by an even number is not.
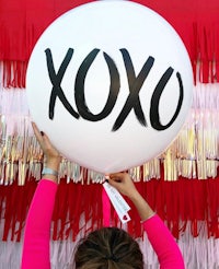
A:
[[[90,1],[0,0],[0,260],[3,260],[0,268],[3,269],[15,269],[14,265],[20,262],[25,218],[42,172],[43,154],[31,128],[25,93],[28,58],[49,23],[85,2]],[[159,12],[181,35],[193,66],[194,100],[185,126],[170,148],[128,173],[177,239],[187,268],[217,269],[219,1],[136,2]],[[68,160],[62,160],[59,175],[51,225],[51,264],[54,268],[69,268],[72,256],[67,255],[77,239],[104,224],[101,186],[104,176]],[[138,238],[148,268],[158,268],[134,209],[131,217],[135,221],[123,227]],[[113,208],[111,222],[122,226]]]

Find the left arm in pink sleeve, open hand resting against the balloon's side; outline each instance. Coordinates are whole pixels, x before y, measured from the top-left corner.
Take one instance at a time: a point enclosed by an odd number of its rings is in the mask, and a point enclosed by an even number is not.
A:
[[[45,165],[58,171],[60,155],[50,144],[46,134],[41,133],[33,124],[35,136],[46,157]],[[49,242],[50,222],[57,191],[57,176],[44,175],[34,194],[24,231],[22,269],[50,268]]]

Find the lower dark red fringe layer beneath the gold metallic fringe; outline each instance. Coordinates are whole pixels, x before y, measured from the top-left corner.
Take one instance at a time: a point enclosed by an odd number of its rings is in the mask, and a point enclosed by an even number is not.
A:
[[[0,186],[0,221],[4,220],[2,239],[20,241],[27,209],[37,183],[26,182],[25,186]],[[138,190],[149,204],[166,222],[174,237],[185,231],[188,222],[193,236],[199,234],[199,221],[207,226],[208,236],[219,237],[219,177],[215,179],[185,179],[164,182],[151,179],[137,183]],[[135,237],[142,236],[140,219],[134,206],[128,232]],[[4,209],[4,210],[3,210]],[[81,217],[83,221],[81,220]],[[122,226],[112,208],[113,225]],[[103,226],[102,186],[100,184],[67,184],[61,180],[53,215],[53,239],[72,239],[82,232],[87,234]]]

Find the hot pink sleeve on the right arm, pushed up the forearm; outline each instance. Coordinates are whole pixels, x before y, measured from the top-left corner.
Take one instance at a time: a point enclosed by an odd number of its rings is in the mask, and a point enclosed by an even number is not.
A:
[[[143,222],[143,229],[158,255],[161,269],[184,269],[181,250],[163,221],[155,214]]]

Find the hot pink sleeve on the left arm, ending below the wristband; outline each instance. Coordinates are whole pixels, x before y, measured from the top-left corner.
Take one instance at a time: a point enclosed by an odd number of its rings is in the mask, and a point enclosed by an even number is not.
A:
[[[26,225],[22,253],[22,269],[49,269],[50,222],[57,184],[42,179],[34,194]]]

